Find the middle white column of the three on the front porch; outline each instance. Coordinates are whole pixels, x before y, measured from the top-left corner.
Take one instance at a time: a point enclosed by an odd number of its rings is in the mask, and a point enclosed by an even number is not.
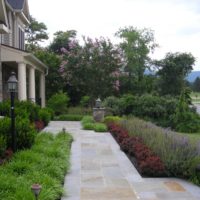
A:
[[[29,100],[35,103],[35,69],[29,69]]]

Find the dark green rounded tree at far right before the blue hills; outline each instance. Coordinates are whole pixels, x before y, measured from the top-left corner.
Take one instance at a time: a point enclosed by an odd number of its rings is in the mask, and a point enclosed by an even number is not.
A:
[[[156,61],[160,93],[180,95],[194,63],[195,58],[190,53],[167,53],[164,59]]]

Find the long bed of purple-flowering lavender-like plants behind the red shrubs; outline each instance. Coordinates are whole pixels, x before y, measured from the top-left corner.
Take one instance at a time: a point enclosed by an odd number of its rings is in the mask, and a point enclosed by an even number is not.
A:
[[[191,168],[198,155],[195,143],[186,136],[162,129],[137,118],[121,121],[129,134],[142,138],[143,142],[164,162],[169,176],[191,178]]]

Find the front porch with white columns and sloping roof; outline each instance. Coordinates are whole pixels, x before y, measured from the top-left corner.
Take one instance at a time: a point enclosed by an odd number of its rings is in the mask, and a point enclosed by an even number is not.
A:
[[[1,46],[1,62],[0,101],[9,98],[7,80],[14,71],[18,79],[18,99],[32,102],[40,99],[41,106],[45,107],[47,66],[32,54],[5,45]]]

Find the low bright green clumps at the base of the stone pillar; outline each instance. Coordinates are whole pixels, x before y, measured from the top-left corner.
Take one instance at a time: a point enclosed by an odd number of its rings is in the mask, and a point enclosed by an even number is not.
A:
[[[84,116],[81,124],[84,130],[94,130],[96,132],[106,132],[107,126],[104,123],[97,123],[92,116]]]

